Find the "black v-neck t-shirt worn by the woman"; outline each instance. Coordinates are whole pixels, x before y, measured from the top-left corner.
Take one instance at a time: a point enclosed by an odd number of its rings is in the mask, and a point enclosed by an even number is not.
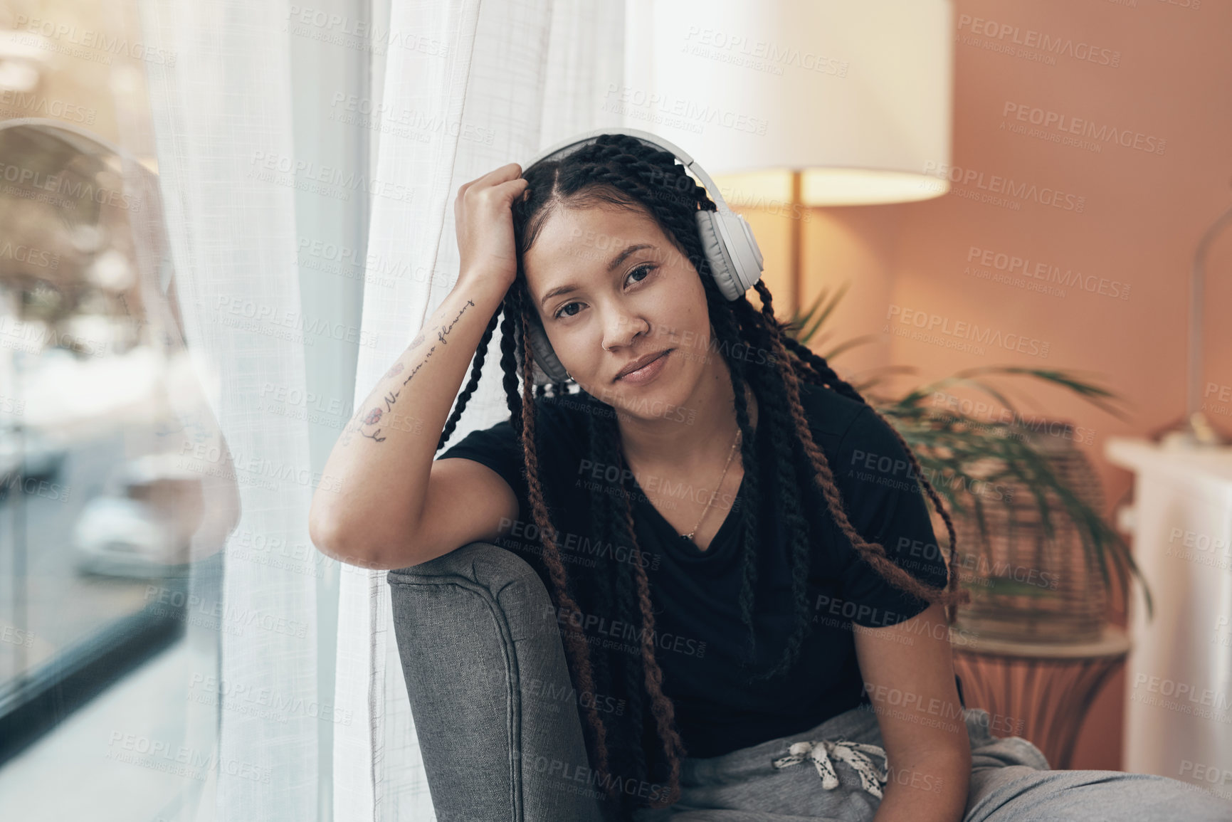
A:
[[[896,563],[922,582],[945,585],[945,562],[923,490],[888,424],[869,405],[823,386],[801,383],[801,403],[813,441],[829,461],[851,525],[866,540],[885,546]],[[734,503],[716,500],[710,515],[718,511],[726,519],[705,551],[683,540],[646,497],[649,493],[655,503],[667,505],[673,493],[689,493],[687,488],[643,489],[633,484],[638,492],[633,494],[633,521],[642,552],[637,561],[646,568],[650,584],[663,690],[675,704],[676,725],[690,757],[716,757],[804,731],[867,704],[851,622],[883,627],[910,619],[928,606],[888,583],[860,558],[825,509],[828,527],[809,542],[813,568],[808,601],[813,622],[800,658],[786,677],[749,684],[750,670],[768,670],[780,661],[796,620],[791,543],[774,514],[777,493],[776,472],[771,470],[774,450],[769,426],[763,424],[765,404],[760,403],[760,408],[756,451],[768,470],[759,474],[763,505],[758,530],[763,540],[756,558],[753,659],[739,608],[747,479],[742,481]],[[598,463],[589,454],[588,426],[596,414],[611,413],[609,405],[586,393],[536,399],[540,472],[569,574],[585,573],[596,555],[614,558],[612,552],[627,550],[588,537],[591,530],[588,483],[602,481],[605,473],[611,479],[618,471]],[[509,483],[517,495],[520,515],[515,532],[509,535],[514,539],[500,537],[498,542],[514,550],[535,545],[541,552],[527,497],[521,441],[510,421],[472,431],[439,458],[450,457],[485,465]],[[615,488],[615,483],[610,486]],[[824,507],[823,500],[817,504]],[[537,557],[517,552],[552,590]],[[579,608],[584,609],[580,603]],[[602,615],[591,617],[586,629],[631,646],[638,642],[637,627]],[[752,664],[745,667],[745,663]]]

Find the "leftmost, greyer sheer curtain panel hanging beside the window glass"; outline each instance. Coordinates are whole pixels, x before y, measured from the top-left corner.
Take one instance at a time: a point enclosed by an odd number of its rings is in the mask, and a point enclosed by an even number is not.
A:
[[[206,454],[200,468],[234,473],[241,505],[212,609],[218,661],[207,654],[184,682],[188,710],[216,717],[205,733],[217,739],[191,744],[213,747],[219,767],[184,820],[303,822],[319,810],[317,739],[330,717],[317,686],[318,577],[310,556],[292,564],[299,552],[276,547],[310,547],[308,423],[287,398],[304,396],[306,348],[319,344],[296,264],[287,11],[142,6],[147,42],[175,55],[147,67],[160,186],[187,344],[232,455]]]

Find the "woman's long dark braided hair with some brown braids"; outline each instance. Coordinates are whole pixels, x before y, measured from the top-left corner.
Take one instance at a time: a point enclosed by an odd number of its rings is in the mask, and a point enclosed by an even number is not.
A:
[[[697,210],[715,211],[717,206],[675,158],[657,147],[625,134],[604,134],[594,143],[572,152],[558,160],[543,160],[524,171],[530,182],[525,195],[513,203],[514,234],[517,245],[517,276],[484,330],[476,354],[471,380],[458,396],[453,413],[441,434],[437,450],[445,446],[453,433],[466,403],[479,382],[484,361],[484,349],[500,319],[500,365],[510,419],[515,431],[520,431],[526,466],[529,497],[535,524],[542,540],[542,561],[551,579],[554,604],[563,611],[577,611],[583,599],[593,612],[611,615],[627,625],[641,627],[641,656],[590,653],[589,645],[579,630],[562,626],[565,656],[570,675],[579,693],[595,694],[596,686],[623,689],[628,711],[622,721],[607,723],[600,717],[594,700],[585,706],[584,728],[590,762],[594,765],[609,797],[609,810],[627,818],[632,799],[630,791],[618,786],[623,779],[662,780],[665,790],[655,796],[652,791],[650,807],[663,807],[680,796],[680,760],[687,755],[675,727],[674,706],[663,693],[663,672],[654,653],[654,609],[646,571],[639,562],[615,562],[614,567],[595,567],[593,573],[565,574],[557,531],[548,516],[548,500],[540,477],[535,399],[556,398],[569,393],[572,381],[552,386],[533,387],[531,371],[531,344],[526,333],[530,323],[540,323],[532,307],[522,259],[535,243],[547,218],[561,207],[585,208],[591,206],[616,206],[649,214],[676,249],[685,255],[701,279],[706,306],[717,350],[727,362],[736,398],[736,418],[743,433],[740,460],[745,468],[742,589],[739,608],[743,624],[753,641],[754,589],[756,584],[756,546],[759,542],[759,516],[764,515],[761,488],[769,477],[759,473],[763,461],[756,458],[755,440],[749,421],[745,386],[752,388],[763,409],[759,426],[768,429],[774,449],[771,460],[776,472],[772,494],[774,516],[785,524],[784,532],[790,540],[793,631],[787,640],[782,657],[769,670],[754,679],[786,674],[798,658],[801,645],[812,626],[811,601],[807,580],[811,571],[811,534],[821,532],[827,513],[854,546],[859,556],[883,578],[909,594],[947,608],[947,620],[954,621],[954,608],[967,601],[968,594],[957,588],[958,577],[949,574],[945,588],[925,585],[891,561],[885,548],[869,542],[848,520],[843,499],[834,483],[825,456],[813,441],[808,421],[801,405],[801,382],[824,386],[844,397],[867,404],[855,388],[844,382],[829,364],[806,345],[785,333],[785,325],[775,318],[770,288],[764,280],[754,286],[761,307],[755,308],[744,296],[729,302],[718,290],[710,272],[710,264],[702,250],[696,216]],[[541,325],[542,327],[542,325]],[[739,352],[760,349],[770,352],[768,362],[752,366]],[[519,355],[520,352],[520,355]],[[736,355],[732,356],[731,352]],[[519,365],[521,366],[519,373]],[[521,393],[519,392],[519,378]],[[876,413],[876,412],[875,412]],[[880,414],[878,414],[880,417]],[[882,418],[883,419],[883,418]],[[887,423],[888,425],[888,423]],[[611,493],[602,483],[590,483],[591,532],[604,542],[632,546],[637,556],[637,536],[633,529],[630,478],[620,447],[620,430],[615,414],[595,414],[590,429],[590,456],[596,462],[618,466],[620,479]],[[894,431],[893,426],[890,430]],[[899,444],[915,468],[936,510],[945,520],[950,536],[950,564],[955,553],[955,530],[949,513],[936,490],[924,478],[910,447],[897,431]],[[768,470],[770,471],[770,470]],[[770,495],[770,494],[768,494]],[[819,504],[824,500],[824,505]],[[615,779],[614,779],[615,775]],[[614,807],[615,806],[615,807]]]

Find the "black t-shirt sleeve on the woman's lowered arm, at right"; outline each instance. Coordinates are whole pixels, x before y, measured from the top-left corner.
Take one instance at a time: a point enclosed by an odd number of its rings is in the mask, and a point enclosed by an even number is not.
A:
[[[896,564],[928,585],[945,587],[949,573],[929,515],[924,488],[890,423],[871,407],[853,420],[832,466],[848,519]],[[897,625],[928,608],[869,564],[838,530],[844,615],[866,627]]]

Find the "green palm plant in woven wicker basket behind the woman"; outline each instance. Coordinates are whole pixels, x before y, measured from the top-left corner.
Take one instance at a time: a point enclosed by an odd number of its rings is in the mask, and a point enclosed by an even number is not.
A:
[[[812,306],[792,314],[785,333],[830,362],[876,340],[870,334],[833,343],[823,332],[849,285],[823,288]],[[1119,588],[1129,603],[1132,578],[1142,582],[1149,617],[1149,589],[1129,545],[1099,510],[1103,495],[1093,467],[1072,439],[1040,430],[1072,428],[1020,414],[988,377],[1042,381],[1125,419],[1112,405],[1120,398],[1073,371],[1020,366],[965,368],[898,396],[883,391],[890,376],[914,372],[888,366],[848,382],[912,446],[954,514],[960,584],[972,594],[971,604],[958,609],[956,626],[989,638],[1090,641],[1104,625],[1108,595]],[[987,393],[1003,413],[981,419],[938,402],[963,387]],[[936,534],[947,542],[945,527]]]

